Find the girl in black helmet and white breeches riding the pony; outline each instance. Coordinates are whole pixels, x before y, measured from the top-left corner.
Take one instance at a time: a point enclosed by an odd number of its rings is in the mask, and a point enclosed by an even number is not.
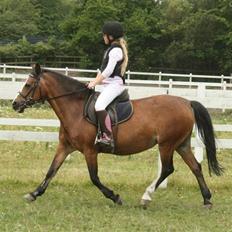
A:
[[[100,72],[88,84],[88,88],[91,89],[98,84],[103,84],[103,90],[95,104],[95,111],[101,129],[101,137],[96,143],[103,143],[113,147],[111,119],[106,107],[125,89],[124,73],[128,63],[127,44],[123,38],[123,28],[117,21],[105,23],[102,32],[104,42],[109,47],[105,51]]]

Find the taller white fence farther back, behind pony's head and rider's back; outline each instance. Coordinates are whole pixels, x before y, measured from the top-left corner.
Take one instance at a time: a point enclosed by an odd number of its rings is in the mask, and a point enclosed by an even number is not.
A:
[[[97,70],[48,68],[66,75],[89,81]],[[13,99],[22,88],[31,67],[0,65],[0,98]],[[134,80],[132,77],[146,77],[150,80]],[[126,83],[132,99],[158,94],[181,96],[189,100],[198,100],[207,108],[232,109],[232,77],[204,76],[193,74],[168,74],[126,72]],[[186,79],[183,81],[183,79]],[[204,82],[205,80],[211,82]]]

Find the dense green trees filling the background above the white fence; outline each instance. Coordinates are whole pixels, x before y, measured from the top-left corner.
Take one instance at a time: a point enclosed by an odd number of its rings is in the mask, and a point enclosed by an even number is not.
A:
[[[0,57],[79,56],[96,69],[101,27],[118,20],[131,70],[231,73],[231,0],[2,0],[0,12]]]

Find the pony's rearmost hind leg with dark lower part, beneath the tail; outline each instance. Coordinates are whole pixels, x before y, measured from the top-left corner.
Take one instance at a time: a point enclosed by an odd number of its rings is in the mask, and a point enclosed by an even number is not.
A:
[[[210,208],[212,206],[212,203],[210,202],[211,193],[204,180],[204,176],[201,170],[201,164],[197,162],[192,152],[190,137],[184,143],[182,143],[176,149],[176,151],[181,155],[185,163],[189,166],[189,168],[195,175],[201,190],[202,197],[204,199],[204,206]]]

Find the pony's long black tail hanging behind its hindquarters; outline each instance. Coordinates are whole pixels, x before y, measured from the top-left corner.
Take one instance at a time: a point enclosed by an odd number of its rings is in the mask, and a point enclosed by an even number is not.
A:
[[[209,174],[211,175],[211,172],[213,172],[217,176],[220,176],[223,172],[223,168],[217,161],[215,135],[209,112],[197,101],[191,101],[191,107],[193,108],[199,136],[205,144]]]

